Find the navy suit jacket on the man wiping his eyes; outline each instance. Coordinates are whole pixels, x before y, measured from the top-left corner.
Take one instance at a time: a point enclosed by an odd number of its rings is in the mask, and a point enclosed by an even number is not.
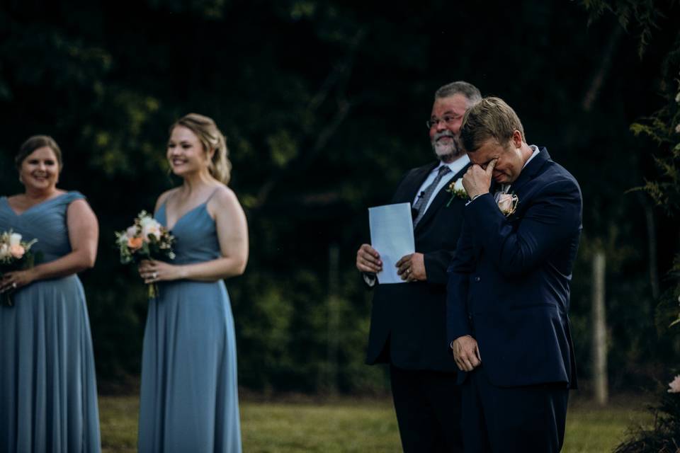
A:
[[[448,342],[475,338],[496,386],[565,382],[574,388],[567,311],[582,230],[581,190],[543,148],[510,192],[519,205],[509,217],[490,193],[465,207],[449,268]],[[461,373],[459,382],[464,379]]]

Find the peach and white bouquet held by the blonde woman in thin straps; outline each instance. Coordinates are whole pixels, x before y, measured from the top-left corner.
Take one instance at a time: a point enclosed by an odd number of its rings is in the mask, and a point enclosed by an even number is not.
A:
[[[175,237],[146,211],[137,214],[135,223],[115,234],[120,263],[138,264],[141,260],[174,260]],[[149,297],[158,296],[158,285],[149,283]]]

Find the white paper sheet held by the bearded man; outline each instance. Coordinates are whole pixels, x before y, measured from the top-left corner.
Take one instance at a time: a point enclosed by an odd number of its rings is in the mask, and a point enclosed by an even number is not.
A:
[[[411,203],[398,203],[368,208],[370,245],[380,253],[382,270],[379,283],[405,283],[395,264],[402,256],[414,253],[413,219]]]

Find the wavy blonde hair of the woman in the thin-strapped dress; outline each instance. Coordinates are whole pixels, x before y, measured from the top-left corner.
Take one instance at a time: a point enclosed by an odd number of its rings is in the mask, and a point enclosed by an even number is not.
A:
[[[203,150],[206,153],[210,153],[211,150],[215,151],[212,154],[212,159],[210,159],[210,164],[208,164],[208,171],[210,171],[210,175],[213,178],[222,183],[229,184],[229,180],[232,177],[232,163],[229,161],[227,139],[217,128],[215,121],[198,113],[189,113],[171,125],[171,134],[172,130],[177,126],[186,127],[196,134],[200,143],[203,144]]]

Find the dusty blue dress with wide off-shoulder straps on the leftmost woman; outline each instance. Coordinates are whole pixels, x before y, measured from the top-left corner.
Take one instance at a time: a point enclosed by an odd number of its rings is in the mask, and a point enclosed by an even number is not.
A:
[[[0,198],[0,231],[13,229],[42,262],[71,252],[69,192],[16,214]],[[99,413],[85,294],[77,275],[38,280],[0,306],[0,452],[99,452]]]

